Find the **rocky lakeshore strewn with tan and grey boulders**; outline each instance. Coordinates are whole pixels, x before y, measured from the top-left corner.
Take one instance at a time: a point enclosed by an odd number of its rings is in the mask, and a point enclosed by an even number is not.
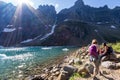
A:
[[[110,59],[102,59],[102,70],[120,69],[120,54],[116,53],[114,56],[111,55]],[[91,80],[94,66],[89,62],[89,56],[87,55],[87,47],[83,47],[76,52],[65,56],[61,59],[60,63],[55,64],[49,68],[44,68],[42,73],[39,75],[29,76],[25,80],[71,80],[70,78],[74,73],[78,73],[80,77],[76,77],[73,80]],[[102,71],[106,74],[106,71]],[[98,76],[99,77],[99,76]],[[120,77],[118,77],[120,78]]]

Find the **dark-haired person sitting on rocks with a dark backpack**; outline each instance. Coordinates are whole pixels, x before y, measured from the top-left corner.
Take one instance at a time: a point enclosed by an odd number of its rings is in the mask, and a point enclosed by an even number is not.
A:
[[[110,55],[113,53],[112,47],[107,46],[106,43],[103,43],[102,46],[103,46],[103,48],[101,50],[100,58],[102,59],[102,57],[106,56],[110,59]]]

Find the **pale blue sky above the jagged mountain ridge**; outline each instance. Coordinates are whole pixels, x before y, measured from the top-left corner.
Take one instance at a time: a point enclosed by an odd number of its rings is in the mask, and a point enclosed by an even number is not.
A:
[[[11,2],[14,5],[18,4],[20,0],[0,0],[4,2]],[[24,0],[25,1],[25,0]],[[57,12],[61,9],[69,8],[74,5],[74,2],[77,0],[29,0],[31,5],[34,8],[38,8],[39,5],[54,5]],[[108,5],[109,8],[114,8],[115,6],[120,6],[120,0],[83,0],[86,5],[90,5],[92,7],[100,7],[104,5]]]

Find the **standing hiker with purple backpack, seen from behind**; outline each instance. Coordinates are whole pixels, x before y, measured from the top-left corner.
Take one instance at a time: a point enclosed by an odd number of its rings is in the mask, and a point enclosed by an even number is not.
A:
[[[94,63],[94,74],[93,77],[95,78],[96,75],[99,72],[99,66],[100,66],[100,61],[99,61],[99,53],[98,53],[98,45],[97,45],[97,40],[93,39],[92,44],[88,48],[89,56],[90,56],[90,61]]]

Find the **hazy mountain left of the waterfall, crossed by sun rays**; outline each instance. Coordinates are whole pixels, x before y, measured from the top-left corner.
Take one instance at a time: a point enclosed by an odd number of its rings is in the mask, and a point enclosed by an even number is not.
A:
[[[49,33],[56,18],[53,6],[39,6],[35,10],[27,4],[17,7],[11,3],[0,4],[0,45],[3,46],[13,46]]]

